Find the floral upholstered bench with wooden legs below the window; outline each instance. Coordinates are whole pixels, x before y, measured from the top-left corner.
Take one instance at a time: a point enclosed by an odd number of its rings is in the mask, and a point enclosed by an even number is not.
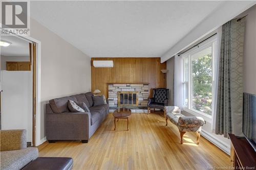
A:
[[[170,122],[175,124],[180,131],[180,143],[183,143],[183,135],[186,132],[197,133],[197,144],[199,144],[201,127],[205,125],[205,121],[202,117],[196,116],[184,116],[180,112],[180,108],[177,106],[165,106],[164,115],[166,115],[166,126],[169,118]]]

